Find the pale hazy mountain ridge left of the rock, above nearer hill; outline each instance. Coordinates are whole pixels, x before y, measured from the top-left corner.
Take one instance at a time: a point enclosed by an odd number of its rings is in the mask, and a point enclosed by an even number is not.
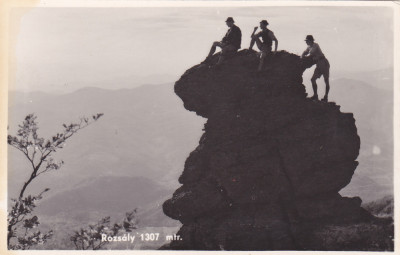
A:
[[[15,133],[18,124],[32,112],[38,116],[39,134],[44,137],[57,133],[62,123],[104,113],[98,122],[77,133],[56,153],[56,158],[66,163],[62,169],[44,175],[33,188],[64,178],[74,184],[98,174],[145,176],[173,182],[168,176],[177,174],[176,169],[183,165],[184,157],[197,143],[186,134],[200,133],[203,122],[183,110],[173,96],[172,84],[17,96],[9,108],[9,132]],[[26,166],[22,155],[13,148],[9,148],[9,159],[12,193],[21,185],[18,181],[23,179]],[[63,188],[63,185],[56,186]]]

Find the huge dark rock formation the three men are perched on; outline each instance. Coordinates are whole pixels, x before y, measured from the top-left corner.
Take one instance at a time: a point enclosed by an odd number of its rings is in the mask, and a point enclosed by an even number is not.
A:
[[[306,98],[308,59],[278,52],[256,72],[253,51],[240,51],[220,67],[217,58],[175,84],[185,108],[208,121],[186,160],[183,185],[163,205],[183,223],[180,240],[164,248],[358,249],[346,246],[349,240],[338,246],[324,238],[332,227],[374,221],[360,198],[338,193],[357,167],[353,115]]]

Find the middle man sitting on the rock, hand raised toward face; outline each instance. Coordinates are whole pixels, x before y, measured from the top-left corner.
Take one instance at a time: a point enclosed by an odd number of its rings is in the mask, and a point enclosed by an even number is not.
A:
[[[275,52],[278,49],[278,39],[276,39],[274,33],[271,30],[269,30],[267,28],[267,26],[268,26],[268,21],[262,20],[260,22],[261,31],[259,33],[255,34],[258,27],[254,27],[253,33],[250,36],[251,41],[250,41],[249,50],[252,50],[254,43],[256,43],[258,49],[261,51],[260,63],[258,65],[258,71],[261,71],[261,68],[264,64],[265,57],[271,53],[273,41],[275,42]],[[260,40],[260,37],[262,38],[262,41]]]

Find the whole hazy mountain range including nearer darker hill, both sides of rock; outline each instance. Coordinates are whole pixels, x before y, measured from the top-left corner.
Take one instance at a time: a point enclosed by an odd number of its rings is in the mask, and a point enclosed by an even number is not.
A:
[[[359,166],[341,194],[370,202],[393,194],[393,91],[362,80],[333,80],[330,100],[354,114],[361,137]],[[177,179],[198,144],[205,119],[183,108],[173,84],[88,87],[62,95],[10,92],[10,134],[29,113],[38,116],[43,137],[61,131],[63,123],[104,113],[54,154],[65,161],[61,169],[40,176],[27,190],[36,194],[50,188],[37,208],[48,226],[62,221],[79,226],[107,215],[118,218],[133,208],[139,208],[141,227],[173,231],[179,226],[162,213],[160,204],[179,187]],[[9,197],[16,197],[29,164],[11,147],[8,164]]]

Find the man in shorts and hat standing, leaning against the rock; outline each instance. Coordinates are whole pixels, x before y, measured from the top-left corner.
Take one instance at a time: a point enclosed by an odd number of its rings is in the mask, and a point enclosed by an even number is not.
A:
[[[307,49],[303,52],[301,57],[306,57],[307,55],[312,57],[314,63],[317,64],[317,67],[314,70],[314,74],[311,78],[311,83],[313,86],[314,95],[311,97],[312,100],[318,100],[317,93],[317,79],[324,76],[324,81],[326,85],[325,96],[321,99],[322,102],[328,102],[328,93],[329,93],[329,62],[325,58],[325,55],[322,53],[321,48],[317,43],[314,42],[314,37],[312,35],[307,35],[306,44],[308,45]]]

